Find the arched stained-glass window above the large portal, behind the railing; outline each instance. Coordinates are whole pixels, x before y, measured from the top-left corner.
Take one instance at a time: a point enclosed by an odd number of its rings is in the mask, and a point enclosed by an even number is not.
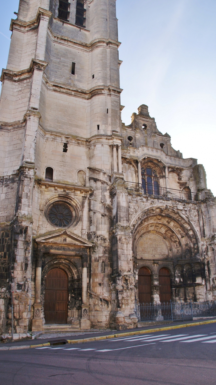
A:
[[[144,194],[160,195],[160,184],[157,171],[151,167],[143,167],[141,174]]]

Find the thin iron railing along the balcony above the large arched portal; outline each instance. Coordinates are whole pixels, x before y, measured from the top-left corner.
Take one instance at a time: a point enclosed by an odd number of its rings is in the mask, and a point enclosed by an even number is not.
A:
[[[178,198],[178,199],[187,199],[187,200],[197,200],[197,193],[196,192],[189,192],[184,190],[175,190],[175,189],[168,189],[166,187],[157,186],[157,188],[154,188],[153,185],[148,186],[148,183],[146,183],[146,187],[143,187],[143,184],[136,183],[136,182],[129,182],[125,181],[128,185],[128,189],[132,189],[135,191],[140,191],[142,194],[149,194],[154,196],[171,196],[172,198]],[[151,187],[151,188],[150,188]],[[150,192],[150,193],[149,193]]]

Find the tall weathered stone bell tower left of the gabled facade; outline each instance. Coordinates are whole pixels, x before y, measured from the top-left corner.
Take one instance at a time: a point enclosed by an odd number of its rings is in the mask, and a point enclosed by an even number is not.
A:
[[[11,291],[17,334],[48,320],[133,327],[116,0],[20,0],[10,30],[0,99],[2,332],[11,331]],[[55,314],[52,269],[68,282]]]

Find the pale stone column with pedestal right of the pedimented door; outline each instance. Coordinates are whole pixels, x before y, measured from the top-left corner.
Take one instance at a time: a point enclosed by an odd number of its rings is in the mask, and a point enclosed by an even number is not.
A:
[[[88,315],[89,305],[87,296],[87,263],[83,263],[82,267],[82,318],[80,320],[81,330],[91,329],[91,322]]]

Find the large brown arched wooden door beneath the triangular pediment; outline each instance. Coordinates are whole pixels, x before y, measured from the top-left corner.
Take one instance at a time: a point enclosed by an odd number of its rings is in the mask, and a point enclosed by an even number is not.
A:
[[[52,269],[47,274],[44,297],[46,323],[67,323],[68,277],[61,269]]]

